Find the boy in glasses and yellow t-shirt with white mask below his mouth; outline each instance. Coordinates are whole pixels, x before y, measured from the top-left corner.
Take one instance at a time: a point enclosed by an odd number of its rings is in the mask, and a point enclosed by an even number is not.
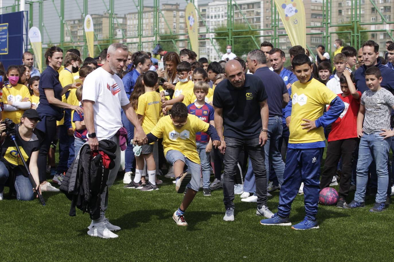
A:
[[[164,92],[161,93],[162,97],[162,108],[163,112],[166,113],[168,110],[171,110],[173,104],[177,102],[182,102],[188,92],[191,90],[193,92],[193,81],[190,80],[191,75],[191,65],[189,62],[183,61],[177,65],[177,76],[179,82],[175,85],[175,91],[173,95],[173,99],[164,100]]]

